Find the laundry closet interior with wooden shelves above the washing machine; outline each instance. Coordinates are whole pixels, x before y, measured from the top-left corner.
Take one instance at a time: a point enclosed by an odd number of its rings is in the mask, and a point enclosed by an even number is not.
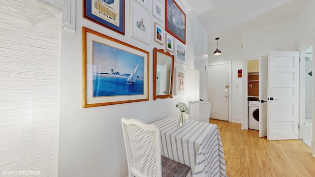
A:
[[[259,60],[247,62],[248,128],[259,130]]]

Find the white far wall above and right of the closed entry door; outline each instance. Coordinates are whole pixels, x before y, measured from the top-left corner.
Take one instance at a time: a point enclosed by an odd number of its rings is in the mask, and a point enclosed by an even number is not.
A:
[[[215,39],[214,39],[215,40]],[[243,118],[243,78],[237,77],[237,70],[243,68],[242,39],[221,42],[218,40],[220,56],[214,56],[217,44],[208,47],[208,63],[232,61],[232,121],[241,123]]]

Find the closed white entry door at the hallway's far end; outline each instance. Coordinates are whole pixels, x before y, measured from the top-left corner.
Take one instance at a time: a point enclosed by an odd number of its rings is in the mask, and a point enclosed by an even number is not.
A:
[[[230,62],[208,64],[210,118],[229,121]]]

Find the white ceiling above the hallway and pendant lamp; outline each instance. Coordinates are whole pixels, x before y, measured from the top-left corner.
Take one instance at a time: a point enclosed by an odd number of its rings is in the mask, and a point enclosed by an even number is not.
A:
[[[289,20],[298,16],[309,0],[180,0],[194,10],[208,31],[208,43],[216,37],[240,39],[243,30]]]

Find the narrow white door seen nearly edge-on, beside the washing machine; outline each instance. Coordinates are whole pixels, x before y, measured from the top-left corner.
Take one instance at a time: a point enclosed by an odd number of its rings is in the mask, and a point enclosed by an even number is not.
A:
[[[259,137],[267,136],[268,57],[259,58]]]

